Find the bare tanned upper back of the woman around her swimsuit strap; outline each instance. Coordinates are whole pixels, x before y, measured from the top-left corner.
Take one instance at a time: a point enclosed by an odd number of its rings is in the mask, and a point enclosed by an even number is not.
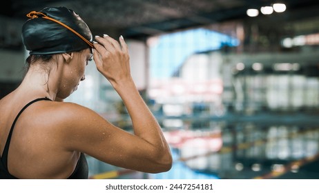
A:
[[[0,101],[1,159],[6,159],[7,155],[3,153],[8,154],[10,174],[23,179],[65,179],[71,176],[80,154],[65,150],[65,141],[61,141],[59,136],[61,125],[57,113],[61,103],[40,99],[23,110],[14,125],[12,136],[9,137],[11,141],[7,147],[8,152],[3,152],[12,123],[26,105],[26,102],[21,102],[22,99],[14,99],[16,97],[12,94],[12,99],[8,96]],[[86,167],[87,170],[85,156],[81,157],[81,165],[84,165],[81,167]]]

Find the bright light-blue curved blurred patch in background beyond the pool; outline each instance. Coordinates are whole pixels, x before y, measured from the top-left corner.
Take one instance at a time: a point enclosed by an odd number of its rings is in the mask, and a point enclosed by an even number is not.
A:
[[[238,46],[239,43],[236,38],[204,28],[162,35],[157,44],[150,47],[151,77],[172,77],[192,54]]]

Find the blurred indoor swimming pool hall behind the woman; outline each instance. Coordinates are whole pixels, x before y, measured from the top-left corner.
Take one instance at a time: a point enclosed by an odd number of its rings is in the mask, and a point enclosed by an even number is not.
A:
[[[146,174],[87,156],[90,179],[319,179],[318,0],[6,2],[0,98],[23,77],[21,26],[32,10],[66,6],[94,35],[128,43],[133,79],[162,125],[173,167]],[[132,131],[93,62],[66,101]]]

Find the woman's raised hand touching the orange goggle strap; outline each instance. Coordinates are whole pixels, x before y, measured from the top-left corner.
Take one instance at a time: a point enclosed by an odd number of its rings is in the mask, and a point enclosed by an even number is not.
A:
[[[97,42],[94,43],[93,58],[97,70],[113,86],[121,81],[131,80],[130,57],[123,37],[119,37],[119,42],[108,35],[96,36],[95,40]]]

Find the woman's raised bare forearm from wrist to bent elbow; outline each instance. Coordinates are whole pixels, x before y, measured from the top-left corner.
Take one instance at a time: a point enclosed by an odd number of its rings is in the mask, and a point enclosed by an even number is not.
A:
[[[154,161],[163,165],[165,170],[169,170],[172,164],[169,146],[160,125],[139,95],[133,79],[113,83],[113,87],[126,105],[135,135],[146,141],[147,145],[151,145],[148,150],[153,154]]]

